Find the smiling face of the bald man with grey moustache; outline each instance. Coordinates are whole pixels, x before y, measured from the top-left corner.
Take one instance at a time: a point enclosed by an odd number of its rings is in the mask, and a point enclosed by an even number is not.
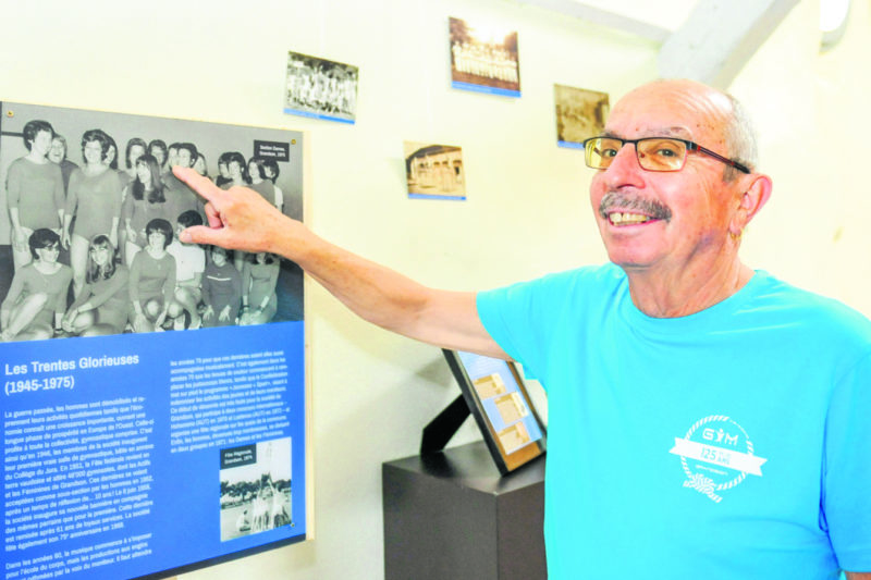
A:
[[[728,156],[722,127],[729,110],[722,96],[698,87],[647,85],[617,103],[604,133],[624,139],[688,139]],[[716,263],[740,200],[737,185],[723,181],[724,169],[715,159],[688,152],[680,171],[646,171],[635,145],[624,145],[590,185],[611,261],[627,271],[655,268],[663,273]]]

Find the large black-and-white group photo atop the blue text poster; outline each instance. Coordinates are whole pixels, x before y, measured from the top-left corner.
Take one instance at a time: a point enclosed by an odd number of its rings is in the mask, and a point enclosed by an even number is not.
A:
[[[296,264],[182,244],[205,200],[255,189],[302,219],[294,132],[2,103],[0,342],[303,319]],[[266,145],[263,145],[266,144]]]

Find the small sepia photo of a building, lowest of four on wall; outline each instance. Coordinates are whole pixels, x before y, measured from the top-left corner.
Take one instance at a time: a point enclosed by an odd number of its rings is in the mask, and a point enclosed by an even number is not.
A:
[[[404,141],[405,177],[413,199],[466,199],[463,149]]]

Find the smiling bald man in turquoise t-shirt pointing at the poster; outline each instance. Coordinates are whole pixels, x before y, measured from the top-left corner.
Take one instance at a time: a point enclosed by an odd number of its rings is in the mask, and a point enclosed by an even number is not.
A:
[[[871,578],[871,324],[740,261],[771,195],[741,107],[651,83],[585,147],[612,263],[507,288],[422,287],[192,171],[211,227],[183,236],[281,254],[376,324],[537,377],[551,580]]]

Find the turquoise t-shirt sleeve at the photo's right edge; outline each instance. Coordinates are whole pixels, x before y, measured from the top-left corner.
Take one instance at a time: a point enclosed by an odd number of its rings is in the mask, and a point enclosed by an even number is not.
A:
[[[871,354],[836,383],[826,417],[822,508],[838,564],[871,571]]]

